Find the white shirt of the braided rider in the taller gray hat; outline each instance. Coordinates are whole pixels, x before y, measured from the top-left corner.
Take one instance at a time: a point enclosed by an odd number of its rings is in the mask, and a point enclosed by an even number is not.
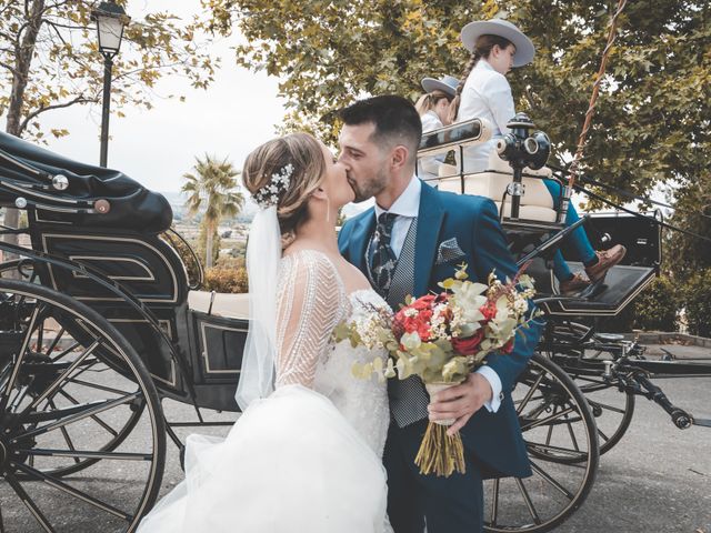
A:
[[[487,119],[493,127],[493,135],[483,144],[464,149],[464,172],[487,170],[497,139],[510,131],[507,123],[514,114],[513,95],[507,77],[497,72],[485,59],[480,59],[464,82],[457,122]]]

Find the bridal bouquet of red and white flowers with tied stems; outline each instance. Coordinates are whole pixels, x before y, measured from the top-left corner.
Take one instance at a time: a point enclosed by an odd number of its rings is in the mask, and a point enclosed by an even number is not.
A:
[[[401,380],[418,375],[430,396],[462,383],[492,352],[513,350],[519,328],[528,326],[529,299],[533,283],[521,269],[505,283],[492,272],[488,283],[468,281],[467,264],[438,285],[439,294],[409,298],[393,316],[374,313],[369,320],[341,324],[337,340],[349,339],[353,346],[384,348],[387,364],[377,359],[353,364],[357,378],[375,373],[381,379]],[[461,435],[447,434],[454,420],[430,422],[415,457],[423,474],[449,476],[464,472]]]

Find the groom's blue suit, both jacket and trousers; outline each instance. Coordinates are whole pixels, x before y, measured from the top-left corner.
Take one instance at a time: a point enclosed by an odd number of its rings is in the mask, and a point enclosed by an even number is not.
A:
[[[341,253],[367,275],[365,250],[374,228],[374,210],[369,209],[349,220],[339,234]],[[412,283],[415,298],[430,291],[441,292],[437,283],[451,278],[462,262],[469,264],[472,281],[485,283],[492,271],[501,279],[513,278],[517,272],[495,204],[489,199],[440,192],[422,183],[415,228]],[[450,261],[443,259],[452,253],[439,253],[443,242],[455,244]],[[397,533],[421,533],[422,515],[427,515],[428,533],[473,533],[481,527],[482,520],[481,477],[531,475],[510,392],[533,354],[540,325],[522,331],[512,353],[491,354],[487,360],[501,380],[503,398],[497,413],[482,408],[461,430],[469,452],[467,474],[448,479],[419,475],[411,459],[427,420],[405,428],[391,423],[384,462],[393,496],[388,511]]]

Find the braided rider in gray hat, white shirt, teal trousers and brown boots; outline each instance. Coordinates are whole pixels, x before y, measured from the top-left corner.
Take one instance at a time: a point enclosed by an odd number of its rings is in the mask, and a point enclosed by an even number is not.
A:
[[[487,119],[493,127],[492,139],[485,143],[464,149],[463,170],[467,173],[482,172],[489,164],[489,155],[495,148],[497,139],[508,133],[507,123],[515,114],[511,86],[507,74],[512,68],[523,67],[535,54],[531,40],[514,24],[507,20],[484,20],[470,22],[462,29],[461,40],[471,52],[471,59],[464,69],[457,93],[450,104],[451,122],[460,122],[473,118]],[[543,180],[558,208],[561,190],[553,180]],[[571,225],[579,220],[575,208],[568,207],[565,224]],[[553,273],[559,281],[562,294],[575,294],[590,281],[602,280],[608,270],[624,258],[627,249],[615,244],[610,250],[595,251],[588,239],[585,230],[578,228],[568,238],[582,261],[588,279],[574,273],[568,266],[562,253],[555,252]]]

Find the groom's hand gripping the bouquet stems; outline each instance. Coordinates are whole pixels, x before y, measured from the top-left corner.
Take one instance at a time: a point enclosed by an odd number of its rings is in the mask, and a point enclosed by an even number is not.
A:
[[[431,403],[428,406],[430,420],[457,419],[447,430],[448,435],[453,435],[484,403],[491,400],[492,395],[489,380],[472,372],[461,385],[440,391],[430,399]]]

